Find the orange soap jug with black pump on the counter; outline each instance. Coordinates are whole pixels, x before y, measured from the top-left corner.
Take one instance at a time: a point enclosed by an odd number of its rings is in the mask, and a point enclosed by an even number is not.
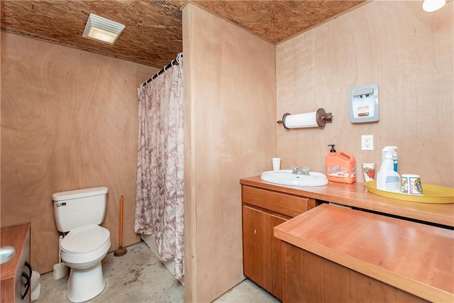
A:
[[[326,177],[329,181],[342,183],[356,182],[356,160],[351,153],[341,150],[336,152],[334,144],[326,156]]]

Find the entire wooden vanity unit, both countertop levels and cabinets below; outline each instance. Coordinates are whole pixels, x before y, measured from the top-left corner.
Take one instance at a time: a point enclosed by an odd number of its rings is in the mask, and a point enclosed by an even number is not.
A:
[[[244,275],[283,302],[454,302],[454,203],[380,197],[359,182],[240,184]]]

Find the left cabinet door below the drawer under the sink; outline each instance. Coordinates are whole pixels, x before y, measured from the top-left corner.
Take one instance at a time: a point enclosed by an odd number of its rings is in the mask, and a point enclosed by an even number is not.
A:
[[[272,292],[271,215],[243,206],[243,271]]]

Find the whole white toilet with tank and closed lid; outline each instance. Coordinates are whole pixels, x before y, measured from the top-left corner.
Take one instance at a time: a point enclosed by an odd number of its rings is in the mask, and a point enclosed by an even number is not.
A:
[[[106,286],[101,260],[111,238],[109,230],[99,224],[106,214],[107,192],[107,187],[95,187],[52,194],[57,229],[66,233],[60,253],[71,268],[66,290],[71,302],[92,299]]]

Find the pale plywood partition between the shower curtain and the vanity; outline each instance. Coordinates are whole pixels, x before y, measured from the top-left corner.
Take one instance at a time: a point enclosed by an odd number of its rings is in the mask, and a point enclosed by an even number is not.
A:
[[[241,177],[275,155],[275,46],[188,4],[183,11],[185,300],[243,279]]]

